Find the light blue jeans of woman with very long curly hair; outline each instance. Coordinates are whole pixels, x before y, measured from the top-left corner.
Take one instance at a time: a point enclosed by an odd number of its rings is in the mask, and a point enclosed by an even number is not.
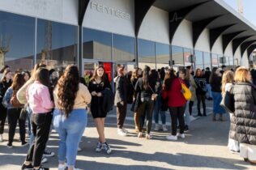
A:
[[[61,110],[55,109],[53,112],[53,126],[58,132],[60,142],[58,147],[58,160],[69,167],[75,167],[75,159],[79,142],[87,126],[86,109],[74,109],[66,118]]]

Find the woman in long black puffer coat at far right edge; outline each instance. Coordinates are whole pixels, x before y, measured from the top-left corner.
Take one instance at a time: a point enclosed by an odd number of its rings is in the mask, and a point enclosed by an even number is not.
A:
[[[230,138],[241,143],[241,157],[256,164],[256,88],[251,83],[250,71],[245,67],[237,69],[234,80],[235,124],[230,127]]]

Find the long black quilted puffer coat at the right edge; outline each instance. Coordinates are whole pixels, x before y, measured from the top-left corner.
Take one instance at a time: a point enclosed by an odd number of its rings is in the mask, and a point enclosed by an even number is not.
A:
[[[256,89],[251,83],[233,87],[235,112],[230,125],[230,138],[256,145]]]

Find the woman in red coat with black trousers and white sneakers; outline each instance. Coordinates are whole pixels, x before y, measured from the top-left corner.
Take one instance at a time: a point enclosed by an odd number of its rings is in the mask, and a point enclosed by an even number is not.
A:
[[[164,90],[162,92],[163,99],[168,97],[168,106],[172,118],[172,135],[166,137],[169,140],[177,140],[177,137],[185,138],[184,113],[186,109],[186,99],[181,91],[181,83],[184,83],[186,70],[179,71],[177,78],[174,71],[171,70],[170,77],[164,80]],[[177,120],[180,125],[180,133],[177,133]]]

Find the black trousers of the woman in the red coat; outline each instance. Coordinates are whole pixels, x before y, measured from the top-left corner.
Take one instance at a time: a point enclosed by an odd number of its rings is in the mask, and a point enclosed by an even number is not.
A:
[[[185,120],[184,120],[184,113],[186,109],[186,104],[181,107],[170,107],[169,111],[171,114],[172,119],[172,135],[176,136],[177,134],[177,120],[179,121],[180,125],[180,134],[184,134],[185,128]]]

